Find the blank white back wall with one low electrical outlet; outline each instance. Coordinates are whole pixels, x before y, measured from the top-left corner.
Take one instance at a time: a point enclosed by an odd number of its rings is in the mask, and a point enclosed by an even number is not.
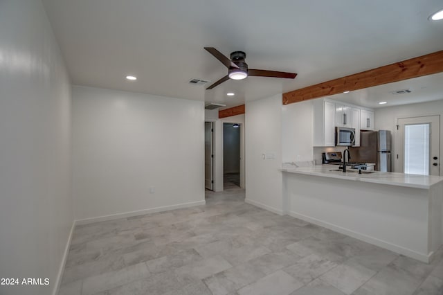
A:
[[[73,197],[78,220],[204,204],[204,102],[73,87]]]

